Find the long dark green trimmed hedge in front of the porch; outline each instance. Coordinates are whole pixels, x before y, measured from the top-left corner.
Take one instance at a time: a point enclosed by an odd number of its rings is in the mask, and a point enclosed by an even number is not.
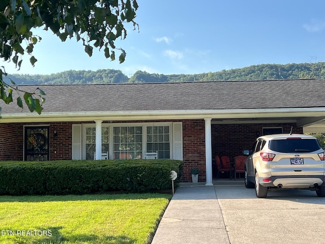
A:
[[[172,188],[181,178],[179,160],[67,160],[0,162],[0,195],[66,195],[150,192]]]

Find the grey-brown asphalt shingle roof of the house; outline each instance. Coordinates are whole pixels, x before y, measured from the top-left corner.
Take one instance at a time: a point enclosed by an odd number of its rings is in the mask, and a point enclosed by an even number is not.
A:
[[[325,107],[324,79],[22,85],[46,92],[46,112]],[[17,113],[15,102],[2,113]],[[26,106],[25,106],[26,107]],[[25,108],[23,112],[27,112]]]

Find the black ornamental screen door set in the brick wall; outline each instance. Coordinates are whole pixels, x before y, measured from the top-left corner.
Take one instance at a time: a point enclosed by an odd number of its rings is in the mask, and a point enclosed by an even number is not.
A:
[[[48,161],[49,127],[25,127],[24,161]]]

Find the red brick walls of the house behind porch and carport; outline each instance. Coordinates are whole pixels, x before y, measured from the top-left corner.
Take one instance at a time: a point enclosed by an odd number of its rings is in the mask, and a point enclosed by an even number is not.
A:
[[[159,120],[168,121],[168,120]],[[173,120],[183,122],[183,161],[182,181],[191,181],[190,169],[200,169],[199,181],[206,180],[205,170],[205,123],[204,119]],[[125,121],[124,121],[125,122]],[[146,121],[143,121],[146,122]],[[92,123],[89,121],[89,123]],[[32,125],[44,125],[32,124]],[[49,123],[50,126],[50,160],[72,158],[72,124],[69,122]],[[23,160],[23,126],[25,124],[0,124],[0,160]],[[31,125],[31,124],[28,124]],[[233,159],[241,155],[243,149],[249,149],[256,139],[256,132],[262,135],[263,127],[282,127],[283,133],[303,133],[295,123],[287,124],[212,124],[212,158],[215,155],[229,156]],[[54,131],[57,137],[53,137]],[[214,168],[213,168],[214,169]],[[216,172],[213,172],[215,175]]]

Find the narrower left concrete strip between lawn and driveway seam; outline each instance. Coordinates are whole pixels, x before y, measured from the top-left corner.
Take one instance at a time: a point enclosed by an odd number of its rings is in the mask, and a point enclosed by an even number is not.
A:
[[[243,183],[237,181],[237,184]],[[199,183],[179,187],[151,243],[229,244],[214,186]]]

